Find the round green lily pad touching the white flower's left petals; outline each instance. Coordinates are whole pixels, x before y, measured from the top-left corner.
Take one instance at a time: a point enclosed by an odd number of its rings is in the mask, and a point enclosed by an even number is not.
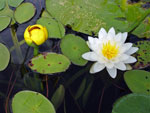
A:
[[[89,50],[85,40],[75,35],[66,35],[60,43],[62,53],[67,56],[73,64],[84,66],[87,60],[82,58],[82,54]]]

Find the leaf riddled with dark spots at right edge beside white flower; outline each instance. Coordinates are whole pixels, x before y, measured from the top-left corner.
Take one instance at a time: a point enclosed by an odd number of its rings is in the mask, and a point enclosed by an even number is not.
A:
[[[138,41],[135,46],[139,50],[135,53],[137,62],[132,67],[140,69],[150,66],[150,41]]]

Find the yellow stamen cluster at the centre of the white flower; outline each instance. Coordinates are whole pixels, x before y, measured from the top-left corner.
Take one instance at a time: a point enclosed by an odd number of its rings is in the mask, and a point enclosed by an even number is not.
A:
[[[119,47],[116,44],[111,44],[110,41],[103,44],[102,54],[107,59],[112,59],[118,55]]]

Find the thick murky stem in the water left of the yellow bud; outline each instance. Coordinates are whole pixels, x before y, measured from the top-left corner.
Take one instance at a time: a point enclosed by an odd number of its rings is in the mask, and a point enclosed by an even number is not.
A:
[[[12,36],[12,41],[14,43],[14,47],[16,49],[16,54],[17,54],[18,59],[19,59],[19,63],[21,63],[23,61],[23,56],[22,56],[20,44],[18,42],[18,38],[17,38],[17,35],[16,35],[14,25],[11,25],[11,36]]]

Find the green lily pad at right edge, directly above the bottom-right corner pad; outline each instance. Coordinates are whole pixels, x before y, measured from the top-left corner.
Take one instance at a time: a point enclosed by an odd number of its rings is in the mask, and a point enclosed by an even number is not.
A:
[[[143,70],[131,70],[124,74],[124,80],[134,93],[150,95],[150,73]]]

